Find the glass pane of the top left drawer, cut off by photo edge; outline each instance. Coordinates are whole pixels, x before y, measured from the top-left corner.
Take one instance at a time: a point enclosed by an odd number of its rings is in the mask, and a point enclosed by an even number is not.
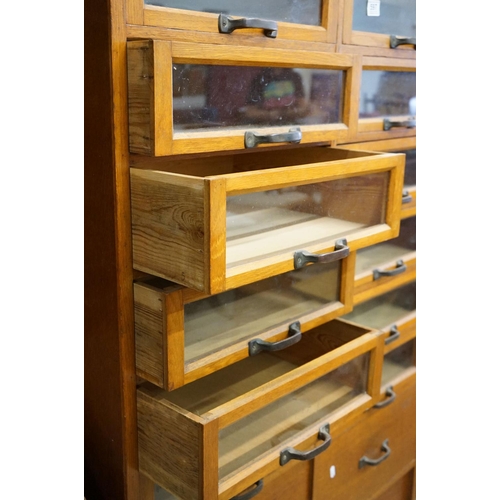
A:
[[[146,5],[172,7],[177,9],[227,14],[237,17],[257,17],[283,21],[288,23],[310,24],[318,26],[321,23],[321,0],[297,2],[297,0],[273,0],[266,2],[237,2],[217,0],[200,2],[198,0],[145,0]]]

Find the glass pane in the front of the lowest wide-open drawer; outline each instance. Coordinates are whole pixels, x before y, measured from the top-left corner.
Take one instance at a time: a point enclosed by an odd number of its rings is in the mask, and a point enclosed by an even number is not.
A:
[[[219,432],[223,478],[366,391],[368,354],[238,420]]]

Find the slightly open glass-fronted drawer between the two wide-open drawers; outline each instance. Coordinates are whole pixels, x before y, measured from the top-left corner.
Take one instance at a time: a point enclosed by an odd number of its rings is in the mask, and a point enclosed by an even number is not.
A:
[[[352,309],[354,256],[266,278],[220,294],[161,278],[134,284],[137,374],[172,390]]]

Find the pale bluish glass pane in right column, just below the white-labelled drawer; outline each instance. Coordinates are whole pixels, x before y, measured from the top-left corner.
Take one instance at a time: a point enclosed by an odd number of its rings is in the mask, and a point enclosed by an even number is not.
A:
[[[414,71],[363,71],[359,117],[416,115]]]

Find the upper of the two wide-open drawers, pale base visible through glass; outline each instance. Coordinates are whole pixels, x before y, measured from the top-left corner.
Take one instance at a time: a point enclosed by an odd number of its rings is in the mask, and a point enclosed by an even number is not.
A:
[[[316,147],[133,162],[134,268],[207,294],[399,231],[404,155]]]

